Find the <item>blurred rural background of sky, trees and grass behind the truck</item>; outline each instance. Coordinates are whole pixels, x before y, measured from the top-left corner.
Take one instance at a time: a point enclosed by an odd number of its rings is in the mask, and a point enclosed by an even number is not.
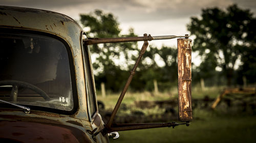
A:
[[[74,18],[88,37],[190,35],[193,118],[189,127],[119,132],[111,142],[255,142],[255,1],[1,1]],[[178,122],[177,40],[150,41],[117,123]],[[90,47],[99,112],[108,120],[141,42]]]

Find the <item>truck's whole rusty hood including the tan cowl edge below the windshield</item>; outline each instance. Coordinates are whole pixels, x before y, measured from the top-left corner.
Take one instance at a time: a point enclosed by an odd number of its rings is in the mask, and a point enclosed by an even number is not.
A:
[[[32,114],[27,115],[22,111],[7,109],[1,111],[0,120],[0,142],[3,138],[8,139],[7,142],[13,140],[18,142],[91,142],[92,140],[84,130],[85,125],[82,125],[84,122],[68,116],[39,111],[33,111]],[[69,123],[71,120],[73,123]]]

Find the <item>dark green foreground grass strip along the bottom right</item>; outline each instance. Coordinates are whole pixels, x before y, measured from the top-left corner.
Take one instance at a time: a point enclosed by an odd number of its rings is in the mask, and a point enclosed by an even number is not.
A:
[[[173,128],[119,132],[111,142],[255,142],[256,117],[222,117],[194,120]]]

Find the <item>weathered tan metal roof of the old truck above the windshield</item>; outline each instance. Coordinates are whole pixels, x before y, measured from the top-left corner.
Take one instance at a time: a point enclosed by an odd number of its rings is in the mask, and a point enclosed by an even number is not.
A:
[[[72,45],[80,41],[82,28],[67,15],[39,9],[0,6],[0,27],[22,28],[51,33]],[[73,39],[73,40],[72,40]]]

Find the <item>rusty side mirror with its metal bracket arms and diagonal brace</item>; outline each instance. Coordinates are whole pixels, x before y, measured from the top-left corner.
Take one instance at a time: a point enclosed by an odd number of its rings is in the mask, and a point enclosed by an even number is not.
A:
[[[188,35],[185,36],[151,36],[144,34],[143,37],[121,37],[121,38],[88,38],[84,39],[83,43],[85,45],[99,44],[99,43],[116,43],[116,42],[132,42],[132,41],[144,41],[142,48],[140,50],[138,59],[130,72],[123,91],[119,96],[115,108],[111,114],[111,117],[106,123],[105,127],[93,136],[96,136],[100,132],[102,134],[107,134],[116,131],[126,131],[126,130],[138,130],[138,129],[150,129],[150,128],[160,128],[160,127],[176,127],[178,125],[189,125],[189,121],[192,121],[192,109],[191,109],[191,41],[188,39]],[[123,97],[133,79],[136,68],[142,58],[142,55],[146,51],[148,46],[148,41],[152,40],[163,40],[163,39],[173,39],[180,38],[178,40],[178,90],[179,90],[179,120],[186,123],[137,123],[137,124],[113,124],[117,110],[123,100]]]

